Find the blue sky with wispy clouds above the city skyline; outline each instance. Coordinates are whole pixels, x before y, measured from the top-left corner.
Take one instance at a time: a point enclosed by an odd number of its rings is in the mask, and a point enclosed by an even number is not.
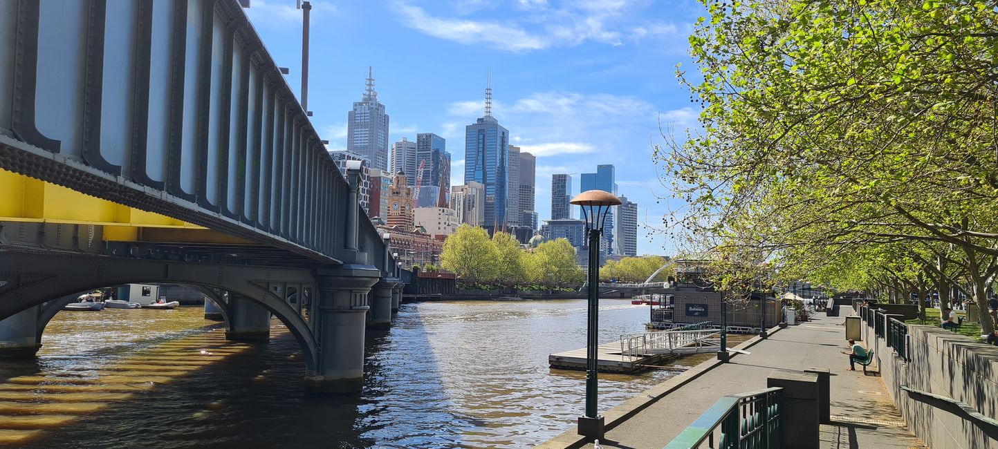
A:
[[[288,83],[300,86],[301,12],[294,0],[251,0],[253,27]],[[372,66],[391,142],[416,133],[447,140],[453,184],[464,179],[464,127],[481,117],[486,72],[493,115],[513,145],[537,156],[537,213],[549,219],[551,175],[617,167],[639,223],[661,227],[668,195],[652,162],[660,122],[696,125],[676,80],[690,67],[695,2],[651,0],[315,0],[308,106],[330,149],[346,147],[346,114]],[[639,253],[672,253],[639,226]]]

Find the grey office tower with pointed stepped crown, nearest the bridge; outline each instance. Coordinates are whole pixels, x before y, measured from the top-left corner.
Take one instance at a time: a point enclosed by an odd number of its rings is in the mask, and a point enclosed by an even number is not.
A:
[[[367,68],[367,90],[346,117],[346,150],[366,159],[372,169],[388,170],[388,115],[377,101]]]

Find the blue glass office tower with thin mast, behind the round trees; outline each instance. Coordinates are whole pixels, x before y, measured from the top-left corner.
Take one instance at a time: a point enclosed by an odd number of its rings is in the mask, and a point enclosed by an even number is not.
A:
[[[509,131],[492,117],[491,81],[486,86],[485,116],[464,128],[464,184],[474,181],[485,186],[482,225],[494,231],[506,225]]]

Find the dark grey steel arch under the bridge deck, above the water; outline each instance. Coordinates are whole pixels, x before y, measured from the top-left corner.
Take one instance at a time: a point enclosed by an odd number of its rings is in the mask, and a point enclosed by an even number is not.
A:
[[[12,269],[15,266],[19,269]],[[287,327],[304,352],[307,372],[314,372],[317,366],[318,347],[308,322],[271,287],[285,283],[312,284],[309,270],[8,252],[0,261],[0,277],[10,279],[0,287],[0,319],[50,302],[42,311],[44,322],[38,323],[39,338],[52,316],[81,291],[153,282],[186,284],[196,286],[199,291],[212,288],[231,291],[266,308]],[[225,310],[229,328],[232,321],[228,304],[221,301],[220,306]]]

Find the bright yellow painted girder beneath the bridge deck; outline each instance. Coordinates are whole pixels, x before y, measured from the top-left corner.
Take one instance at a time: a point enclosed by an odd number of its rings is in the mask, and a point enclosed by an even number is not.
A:
[[[104,226],[104,239],[252,244],[160,214],[140,211],[0,169],[0,222]]]

